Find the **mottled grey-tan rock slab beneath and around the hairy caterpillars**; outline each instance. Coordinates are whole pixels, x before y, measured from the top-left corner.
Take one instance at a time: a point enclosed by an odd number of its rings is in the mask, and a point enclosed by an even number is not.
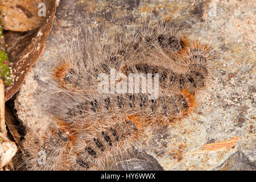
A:
[[[254,7],[254,8],[253,8]],[[216,47],[212,85],[198,101],[195,114],[168,130],[146,131],[141,140],[147,158],[131,157],[117,169],[255,170],[255,3],[247,1],[60,1],[53,31],[40,60],[27,75],[15,101],[19,118],[40,132],[47,125],[45,82],[64,49],[65,31],[77,14],[89,14],[95,24],[105,22],[109,34],[120,24],[132,24],[147,14],[174,19],[189,38]],[[71,28],[71,34],[72,34]],[[62,35],[62,36],[61,36]],[[62,50],[61,50],[62,48]],[[44,103],[45,102],[45,103]],[[155,168],[148,163],[154,163]],[[159,165],[160,164],[160,165]],[[147,166],[149,168],[147,168]],[[154,165],[153,165],[154,166]]]

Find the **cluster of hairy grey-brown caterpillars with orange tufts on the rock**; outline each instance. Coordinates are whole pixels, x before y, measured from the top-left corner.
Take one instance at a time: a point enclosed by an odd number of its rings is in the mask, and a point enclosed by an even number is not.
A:
[[[83,24],[54,68],[47,110],[52,122],[43,136],[30,137],[25,169],[104,169],[108,160],[135,145],[146,127],[166,128],[191,114],[207,87],[213,48],[189,40],[175,23],[125,27],[113,41],[96,29]],[[124,75],[157,73],[158,98],[98,93],[98,76],[109,75],[110,69]]]

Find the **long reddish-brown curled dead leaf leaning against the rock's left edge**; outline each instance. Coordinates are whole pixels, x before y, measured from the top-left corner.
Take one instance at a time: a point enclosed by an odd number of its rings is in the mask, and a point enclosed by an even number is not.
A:
[[[22,50],[16,50],[15,55],[10,56],[10,61],[13,63],[12,71],[14,76],[14,85],[6,88],[5,101],[9,100],[20,88],[27,72],[30,71],[31,67],[36,63],[39,57],[42,55],[46,48],[46,39],[52,29],[53,19],[56,13],[56,1],[50,6],[49,16],[43,23],[43,26],[39,30],[32,32],[31,35],[26,36],[27,42],[24,44],[24,39],[20,39],[18,43],[14,41],[14,44],[21,43],[20,48]],[[28,41],[28,38],[31,38]],[[29,42],[29,43],[28,43]],[[7,41],[10,45],[12,41]],[[27,44],[28,43],[28,44]],[[7,52],[10,49],[7,48]],[[19,52],[19,53],[18,53]]]

